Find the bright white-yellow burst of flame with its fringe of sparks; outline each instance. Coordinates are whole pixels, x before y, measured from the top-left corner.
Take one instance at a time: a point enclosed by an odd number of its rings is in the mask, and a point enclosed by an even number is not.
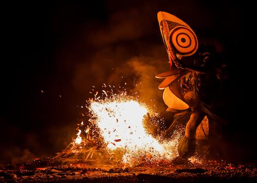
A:
[[[126,94],[98,98],[90,100],[88,109],[106,148],[110,151],[123,150],[125,164],[132,164],[133,159],[140,157],[170,160],[178,155],[179,135],[162,143],[150,135],[143,126],[143,119],[151,110],[137,99]]]

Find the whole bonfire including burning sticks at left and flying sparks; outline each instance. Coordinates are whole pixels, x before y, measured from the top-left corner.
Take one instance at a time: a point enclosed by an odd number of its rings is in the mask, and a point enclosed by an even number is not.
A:
[[[161,123],[159,114],[139,97],[124,91],[114,93],[112,88],[102,90],[87,100],[85,110],[88,120],[78,123],[77,137],[54,159],[80,157],[86,161],[96,154],[97,158],[118,158],[121,164],[135,166],[170,161],[178,156],[180,133],[175,132],[169,140],[152,136],[143,120],[150,114],[155,119],[152,123]]]

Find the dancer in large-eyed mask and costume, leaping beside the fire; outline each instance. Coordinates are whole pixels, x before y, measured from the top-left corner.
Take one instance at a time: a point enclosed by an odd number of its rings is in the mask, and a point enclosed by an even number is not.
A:
[[[195,152],[196,139],[208,139],[209,125],[214,124],[210,121],[219,118],[211,112],[215,103],[212,85],[218,81],[219,73],[215,71],[215,58],[198,45],[196,34],[188,24],[166,12],[158,12],[157,18],[169,56],[169,70],[156,78],[164,79],[158,88],[163,90],[163,101],[168,108],[162,114],[164,129],[146,126],[152,134],[164,132],[164,137],[169,137],[177,125],[186,126],[178,153],[188,158]],[[186,119],[185,124],[178,123],[181,116]]]

